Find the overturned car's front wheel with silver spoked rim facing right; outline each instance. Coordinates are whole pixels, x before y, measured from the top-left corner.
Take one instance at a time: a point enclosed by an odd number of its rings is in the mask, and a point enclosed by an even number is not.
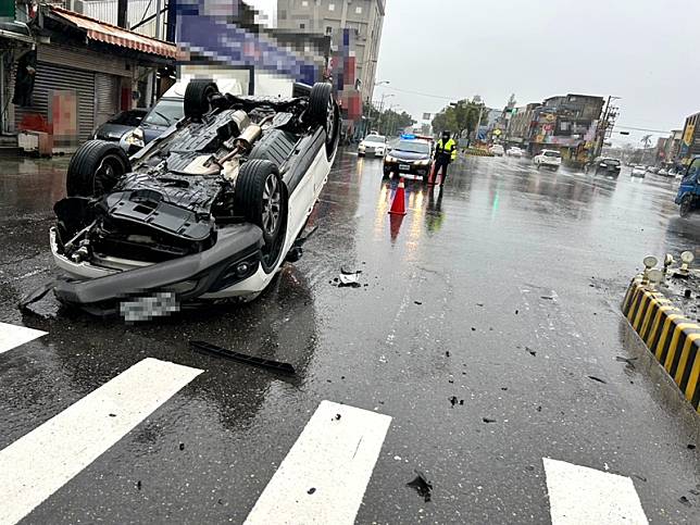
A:
[[[273,162],[252,160],[242,165],[236,182],[234,209],[237,215],[262,229],[262,265],[266,273],[272,272],[287,230],[287,191]]]

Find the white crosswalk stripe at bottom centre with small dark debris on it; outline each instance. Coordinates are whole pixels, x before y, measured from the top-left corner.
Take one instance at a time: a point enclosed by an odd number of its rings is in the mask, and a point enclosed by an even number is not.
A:
[[[353,524],[390,424],[388,415],[322,401],[246,524]]]

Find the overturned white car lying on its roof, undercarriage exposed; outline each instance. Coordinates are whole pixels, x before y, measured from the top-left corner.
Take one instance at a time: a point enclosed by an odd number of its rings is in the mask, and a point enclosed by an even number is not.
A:
[[[55,296],[126,318],[255,297],[301,255],[338,137],[329,84],[283,99],[191,82],[185,117],[130,159],[92,140],[71,160],[50,232],[68,277]]]

